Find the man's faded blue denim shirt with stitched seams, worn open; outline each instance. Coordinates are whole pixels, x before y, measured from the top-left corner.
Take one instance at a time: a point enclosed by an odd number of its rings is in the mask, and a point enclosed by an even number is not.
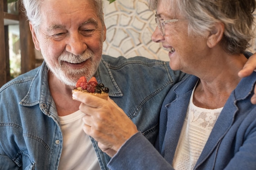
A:
[[[43,63],[0,88],[0,170],[58,169],[63,134],[47,72]],[[103,55],[95,77],[110,89],[110,98],[153,143],[162,102],[184,75],[171,71],[168,62]],[[110,157],[94,139],[91,141],[101,170],[107,170]]]

